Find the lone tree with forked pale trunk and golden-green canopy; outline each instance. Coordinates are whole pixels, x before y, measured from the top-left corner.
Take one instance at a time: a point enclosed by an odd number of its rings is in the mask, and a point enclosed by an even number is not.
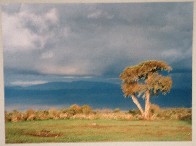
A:
[[[166,94],[172,87],[172,79],[161,75],[161,71],[171,71],[172,68],[164,61],[150,60],[135,66],[125,68],[120,74],[122,91],[125,97],[130,96],[145,119],[150,117],[150,97]],[[143,95],[145,111],[137,100]]]

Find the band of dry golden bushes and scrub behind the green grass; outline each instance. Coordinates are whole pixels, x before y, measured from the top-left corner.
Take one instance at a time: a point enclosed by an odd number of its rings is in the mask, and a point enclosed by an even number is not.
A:
[[[151,120],[192,120],[191,108],[165,108],[151,105]],[[116,119],[116,120],[143,120],[139,110],[121,111],[119,108],[94,110],[89,105],[71,105],[64,109],[51,108],[49,110],[28,109],[24,112],[13,110],[5,112],[6,122],[20,122],[48,119]]]

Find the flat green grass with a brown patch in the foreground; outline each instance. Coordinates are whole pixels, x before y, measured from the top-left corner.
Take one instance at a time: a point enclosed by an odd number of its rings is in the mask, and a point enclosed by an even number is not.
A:
[[[178,120],[58,119],[6,122],[5,128],[6,143],[192,140],[191,123]]]

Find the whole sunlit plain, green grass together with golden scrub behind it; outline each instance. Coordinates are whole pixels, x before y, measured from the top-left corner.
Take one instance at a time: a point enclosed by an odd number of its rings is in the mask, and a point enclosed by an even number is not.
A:
[[[67,109],[5,113],[6,143],[191,141],[192,109],[151,108],[150,120],[138,110]]]

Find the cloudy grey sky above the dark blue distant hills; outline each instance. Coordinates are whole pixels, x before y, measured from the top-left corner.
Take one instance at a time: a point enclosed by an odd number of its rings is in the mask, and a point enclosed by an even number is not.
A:
[[[127,66],[163,60],[192,85],[193,3],[4,4],[5,85],[120,83]]]

